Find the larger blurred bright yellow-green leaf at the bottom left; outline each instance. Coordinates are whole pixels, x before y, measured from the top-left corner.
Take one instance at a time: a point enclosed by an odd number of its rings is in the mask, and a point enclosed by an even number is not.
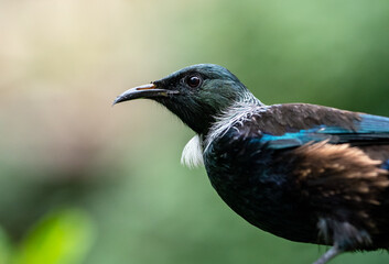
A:
[[[40,221],[22,242],[17,264],[79,264],[94,241],[94,228],[85,212],[55,211]]]

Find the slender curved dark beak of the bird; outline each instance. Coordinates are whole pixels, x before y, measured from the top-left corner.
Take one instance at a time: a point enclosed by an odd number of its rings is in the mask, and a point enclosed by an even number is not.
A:
[[[179,94],[176,90],[159,89],[155,84],[149,84],[131,88],[118,96],[112,106],[119,102],[129,101],[139,98],[168,97],[169,95]]]

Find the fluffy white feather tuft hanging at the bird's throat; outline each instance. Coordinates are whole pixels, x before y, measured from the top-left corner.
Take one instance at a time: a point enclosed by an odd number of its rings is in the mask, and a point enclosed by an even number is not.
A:
[[[193,136],[185,145],[181,164],[188,168],[194,168],[204,165],[203,160],[203,140],[199,135]]]

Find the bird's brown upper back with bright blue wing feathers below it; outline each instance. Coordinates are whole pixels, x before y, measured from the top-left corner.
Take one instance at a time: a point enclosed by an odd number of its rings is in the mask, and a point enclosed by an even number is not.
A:
[[[389,118],[309,103],[273,105],[242,113],[219,135],[272,148],[321,141],[389,144]]]

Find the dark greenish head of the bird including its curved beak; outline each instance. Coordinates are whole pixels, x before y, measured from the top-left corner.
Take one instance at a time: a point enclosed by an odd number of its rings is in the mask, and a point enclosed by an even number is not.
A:
[[[176,114],[198,134],[206,134],[228,107],[251,92],[228,69],[214,64],[198,64],[180,69],[160,80],[129,89],[114,105],[152,99]]]

